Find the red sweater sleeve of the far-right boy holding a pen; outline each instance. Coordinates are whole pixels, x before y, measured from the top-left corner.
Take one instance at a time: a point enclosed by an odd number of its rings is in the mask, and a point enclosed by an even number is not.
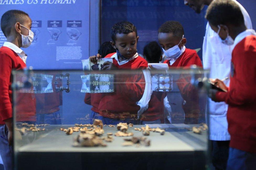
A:
[[[253,44],[253,43],[252,43]],[[255,42],[254,42],[255,44]],[[256,100],[256,48],[248,50],[237,49],[233,51],[235,76],[231,77],[232,86],[228,92],[217,92],[216,99],[225,101],[229,105],[243,105]]]

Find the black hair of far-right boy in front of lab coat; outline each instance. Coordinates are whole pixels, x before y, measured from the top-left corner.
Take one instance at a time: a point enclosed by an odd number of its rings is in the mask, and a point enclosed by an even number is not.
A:
[[[231,24],[241,26],[244,24],[242,11],[232,0],[215,0],[207,8],[205,18],[214,26]]]

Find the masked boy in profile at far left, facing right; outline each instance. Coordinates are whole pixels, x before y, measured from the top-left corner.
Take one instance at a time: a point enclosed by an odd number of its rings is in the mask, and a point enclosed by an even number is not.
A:
[[[0,154],[5,169],[13,169],[12,142],[12,70],[21,70],[26,67],[27,55],[20,47],[28,47],[33,41],[34,34],[31,29],[29,15],[20,10],[9,10],[2,15],[1,30],[7,42],[0,48]],[[20,96],[21,97],[21,96]],[[35,105],[31,95],[24,95],[18,103],[20,115],[17,121],[35,121]],[[31,106],[30,106],[31,105]],[[26,114],[22,114],[22,112]]]

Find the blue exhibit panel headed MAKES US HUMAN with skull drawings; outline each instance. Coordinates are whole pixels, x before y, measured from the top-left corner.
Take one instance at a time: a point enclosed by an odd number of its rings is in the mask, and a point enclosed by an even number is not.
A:
[[[82,69],[89,56],[89,0],[0,0],[0,16],[10,9],[30,15],[34,41],[23,49],[34,69]],[[5,37],[0,32],[0,46]]]

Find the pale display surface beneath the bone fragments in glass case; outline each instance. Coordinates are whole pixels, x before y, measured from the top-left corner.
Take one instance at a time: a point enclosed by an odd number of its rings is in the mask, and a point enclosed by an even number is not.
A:
[[[50,125],[44,127],[45,131],[28,132],[22,136],[22,140],[16,141],[16,152],[183,152],[183,151],[206,151],[207,150],[207,131],[202,131],[201,134],[195,134],[188,131],[187,127],[199,126],[198,124],[169,124],[170,126],[160,127],[166,130],[164,135],[157,132],[150,132],[146,136],[151,140],[151,146],[122,146],[125,138],[131,137],[115,137],[117,132],[116,127],[104,126],[107,133],[113,133],[113,142],[105,142],[106,147],[73,147],[73,138],[80,132],[74,132],[71,135],[66,135],[60,131],[60,128],[73,127],[74,125]],[[115,125],[116,126],[116,125]],[[142,132],[135,131],[134,128],[140,128],[143,125],[134,125],[129,127],[127,132],[134,133],[134,137],[143,136]],[[16,132],[17,133],[17,132]],[[19,132],[18,132],[19,133]]]

